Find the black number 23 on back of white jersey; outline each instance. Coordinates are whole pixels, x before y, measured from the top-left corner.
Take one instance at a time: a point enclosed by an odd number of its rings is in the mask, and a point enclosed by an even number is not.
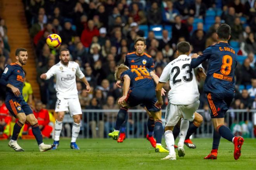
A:
[[[189,78],[187,78],[187,76],[183,76],[182,78],[183,78],[183,80],[184,80],[185,82],[190,82],[190,81],[192,81],[192,79],[193,79],[192,68],[190,67],[190,64],[184,64],[184,65],[182,65],[182,69],[186,69],[186,68],[188,68],[188,69],[186,70],[186,73],[189,74]],[[176,80],[177,76],[180,74],[180,67],[178,67],[178,66],[173,67],[173,69],[171,69],[171,73],[172,73],[172,74],[173,74],[174,70],[176,70],[176,73],[175,73],[175,75],[173,76],[173,85],[176,84],[176,83],[178,83],[178,82],[181,82],[181,79],[177,79],[177,80]]]

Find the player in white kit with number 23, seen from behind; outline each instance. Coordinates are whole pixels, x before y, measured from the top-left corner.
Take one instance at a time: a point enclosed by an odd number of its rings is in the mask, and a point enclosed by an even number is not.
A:
[[[178,143],[178,155],[184,156],[184,140],[189,128],[189,121],[194,120],[194,113],[199,107],[199,92],[197,87],[197,80],[195,72],[203,72],[201,69],[192,69],[190,67],[191,58],[188,56],[190,53],[190,45],[188,42],[180,42],[177,45],[178,58],[171,61],[164,68],[159,83],[156,86],[157,102],[156,106],[163,105],[161,97],[161,88],[164,83],[170,80],[171,90],[168,93],[168,106],[166,109],[166,125],[165,125],[165,141],[169,149],[169,155],[163,160],[176,160],[176,153],[174,151],[174,137],[172,134],[174,126],[182,117],[180,124],[180,140]],[[159,93],[160,89],[160,93]],[[160,96],[159,96],[160,94]]]

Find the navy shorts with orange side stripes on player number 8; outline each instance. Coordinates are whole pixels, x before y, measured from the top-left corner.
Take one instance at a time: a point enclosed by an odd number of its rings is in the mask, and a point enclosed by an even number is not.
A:
[[[211,118],[224,118],[234,98],[234,93],[207,93]]]

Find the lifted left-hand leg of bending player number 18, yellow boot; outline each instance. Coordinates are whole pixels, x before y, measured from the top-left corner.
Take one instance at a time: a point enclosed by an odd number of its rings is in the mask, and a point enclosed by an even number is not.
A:
[[[126,108],[126,107],[121,107],[118,111],[115,129],[113,132],[109,133],[109,137],[112,137],[114,140],[118,139],[119,130],[120,130],[120,127],[123,124],[123,122],[125,122],[127,111],[128,111],[128,108]]]

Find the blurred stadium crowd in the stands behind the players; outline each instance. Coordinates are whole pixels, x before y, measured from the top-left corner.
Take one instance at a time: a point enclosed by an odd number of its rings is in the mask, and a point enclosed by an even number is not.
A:
[[[114,72],[134,51],[133,41],[144,37],[147,53],[155,62],[157,76],[177,56],[176,44],[189,41],[198,53],[217,42],[216,28],[232,28],[230,45],[238,54],[237,90],[234,109],[256,108],[256,1],[254,0],[23,0],[29,33],[35,46],[38,84],[43,104],[55,108],[55,79],[44,81],[42,73],[59,62],[58,50],[69,49],[72,60],[90,83],[87,93],[77,81],[83,109],[115,109],[122,91]],[[0,22],[0,73],[10,63],[4,20]],[[45,40],[56,33],[62,38],[59,49],[50,49]],[[203,64],[207,71],[207,62]],[[199,82],[200,109],[208,112],[207,98]],[[164,87],[168,92],[170,86]],[[1,89],[0,89],[1,90]],[[1,93],[3,94],[3,93]],[[4,97],[4,96],[1,96]],[[167,95],[164,96],[167,104]],[[115,115],[115,113],[113,113]],[[230,114],[232,115],[232,114]],[[207,118],[207,116],[205,116]],[[235,118],[235,115],[234,115]],[[100,118],[104,120],[104,118]],[[245,117],[244,120],[252,120]],[[94,122],[93,122],[94,121]],[[96,120],[90,120],[92,129]],[[102,122],[103,124],[103,122]],[[104,125],[101,125],[104,126]],[[103,128],[104,129],[104,128]],[[93,134],[95,136],[96,134]],[[102,137],[102,134],[100,135]]]

